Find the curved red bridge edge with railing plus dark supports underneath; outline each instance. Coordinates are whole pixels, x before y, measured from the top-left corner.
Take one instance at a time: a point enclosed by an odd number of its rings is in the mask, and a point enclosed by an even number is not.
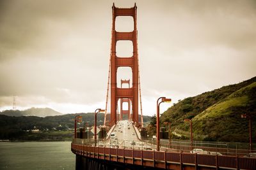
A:
[[[127,148],[106,148],[90,145],[71,144],[71,150],[77,156],[76,167],[83,169],[87,165],[109,169],[255,169],[256,159],[230,155],[204,155],[183,152],[164,152],[154,150],[134,150]],[[90,162],[87,162],[90,160]],[[92,162],[94,161],[94,162]],[[102,163],[103,162],[103,163]],[[96,166],[95,166],[96,164]],[[111,167],[110,167],[111,166]],[[78,168],[76,168],[78,169]],[[108,168],[105,168],[108,169]]]

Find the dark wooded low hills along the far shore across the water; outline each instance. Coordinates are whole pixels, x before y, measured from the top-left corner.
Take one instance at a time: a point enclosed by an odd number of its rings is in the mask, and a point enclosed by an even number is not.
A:
[[[8,111],[8,113],[15,115],[20,111]],[[85,122],[88,122],[90,126],[94,124],[94,113],[76,113],[52,117],[0,115],[0,140],[71,140],[74,134],[76,115],[83,117],[83,122],[77,124],[77,128],[83,127]],[[149,120],[150,117],[143,116],[145,124]],[[104,113],[98,113],[97,125],[103,125],[103,121]]]

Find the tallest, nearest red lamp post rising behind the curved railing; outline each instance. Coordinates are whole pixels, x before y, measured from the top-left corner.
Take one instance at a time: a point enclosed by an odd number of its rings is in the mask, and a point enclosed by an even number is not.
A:
[[[162,100],[159,102],[159,100]],[[172,99],[167,99],[166,97],[159,97],[157,99],[157,107],[156,107],[156,150],[159,151],[159,143],[160,143],[160,126],[159,126],[159,106],[164,102],[171,102]]]

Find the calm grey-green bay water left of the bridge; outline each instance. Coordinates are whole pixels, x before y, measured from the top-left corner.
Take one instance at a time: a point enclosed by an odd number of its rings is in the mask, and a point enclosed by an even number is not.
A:
[[[71,141],[0,142],[0,169],[75,169]]]

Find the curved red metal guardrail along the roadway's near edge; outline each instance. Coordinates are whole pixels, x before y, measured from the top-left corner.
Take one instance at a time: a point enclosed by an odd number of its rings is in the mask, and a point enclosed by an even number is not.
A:
[[[256,169],[256,159],[227,155],[201,155],[182,152],[156,152],[154,150],[131,150],[126,148],[94,147],[72,143],[71,150],[77,155],[97,159],[168,169],[172,166],[212,167],[221,169]]]

